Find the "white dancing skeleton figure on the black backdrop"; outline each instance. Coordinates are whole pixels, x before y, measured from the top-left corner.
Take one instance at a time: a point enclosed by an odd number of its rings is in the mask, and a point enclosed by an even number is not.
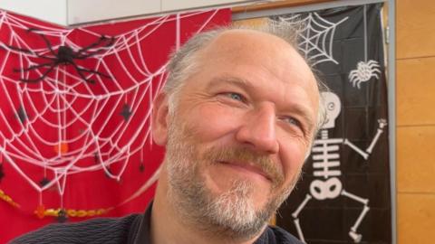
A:
[[[333,92],[323,92],[322,97],[324,98],[327,108],[326,121],[320,131],[320,138],[314,140],[312,150],[314,177],[318,178],[310,183],[310,192],[306,193],[304,201],[301,202],[292,213],[292,217],[294,218],[299,239],[305,242],[304,233],[299,221],[299,214],[303,211],[304,206],[313,198],[318,201],[323,201],[325,199],[335,199],[339,197],[339,195],[343,195],[353,201],[361,202],[362,211],[349,231],[349,236],[355,243],[358,243],[362,239],[362,234],[358,233],[357,229],[366,213],[370,210],[368,205],[369,200],[351,192],[346,192],[345,189],[343,189],[343,184],[338,178],[338,176],[342,174],[340,171],[340,155],[338,154],[339,145],[349,145],[356,153],[362,155],[362,157],[367,160],[387,123],[385,119],[378,120],[379,127],[376,135],[373,137],[372,143],[365,150],[353,145],[353,143],[346,138],[329,138],[328,129],[335,127],[335,119],[338,117],[341,110],[341,101]]]

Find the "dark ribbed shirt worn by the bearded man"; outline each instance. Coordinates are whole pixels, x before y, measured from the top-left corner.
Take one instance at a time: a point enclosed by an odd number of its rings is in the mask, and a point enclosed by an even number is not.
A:
[[[143,214],[58,223],[12,240],[11,244],[150,244],[152,204]],[[255,244],[303,244],[279,227],[267,227]]]

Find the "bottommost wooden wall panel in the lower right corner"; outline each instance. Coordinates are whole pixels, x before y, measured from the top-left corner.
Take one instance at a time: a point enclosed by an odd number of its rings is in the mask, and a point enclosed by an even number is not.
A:
[[[435,194],[399,194],[398,244],[433,244]]]

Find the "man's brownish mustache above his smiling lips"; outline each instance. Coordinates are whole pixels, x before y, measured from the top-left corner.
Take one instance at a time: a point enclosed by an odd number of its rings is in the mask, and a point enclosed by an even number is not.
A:
[[[274,187],[284,183],[283,169],[269,155],[260,154],[246,147],[211,147],[204,153],[208,162],[242,162],[258,167],[272,181]],[[212,163],[212,164],[213,164]]]

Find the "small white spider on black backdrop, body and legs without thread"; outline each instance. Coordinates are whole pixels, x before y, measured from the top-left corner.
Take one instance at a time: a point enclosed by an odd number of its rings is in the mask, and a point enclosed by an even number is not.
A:
[[[356,85],[360,89],[362,82],[366,82],[372,79],[372,77],[379,79],[381,74],[380,67],[378,61],[359,61],[356,70],[352,70],[349,73],[349,80],[352,82],[353,87]]]

